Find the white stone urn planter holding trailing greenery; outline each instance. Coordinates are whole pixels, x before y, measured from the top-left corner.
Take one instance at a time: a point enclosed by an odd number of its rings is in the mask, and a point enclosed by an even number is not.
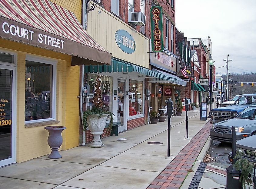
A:
[[[99,114],[88,115],[87,116],[87,126],[93,135],[92,142],[89,144],[89,147],[92,148],[101,148],[104,147],[104,144],[101,142],[100,136],[103,134],[103,130],[106,126],[106,120],[108,114],[102,114],[101,118],[98,119]]]

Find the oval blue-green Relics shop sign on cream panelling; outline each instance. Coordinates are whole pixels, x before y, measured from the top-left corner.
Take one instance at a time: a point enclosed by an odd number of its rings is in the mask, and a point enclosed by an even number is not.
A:
[[[135,40],[125,30],[117,30],[115,33],[115,41],[119,48],[128,54],[131,54],[135,51]]]

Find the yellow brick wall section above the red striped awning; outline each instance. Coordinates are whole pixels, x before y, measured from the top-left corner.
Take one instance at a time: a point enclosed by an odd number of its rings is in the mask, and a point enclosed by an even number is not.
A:
[[[78,21],[81,23],[82,20],[82,0],[51,0],[52,2],[68,9],[69,11],[72,11],[75,13],[75,16],[77,17]]]

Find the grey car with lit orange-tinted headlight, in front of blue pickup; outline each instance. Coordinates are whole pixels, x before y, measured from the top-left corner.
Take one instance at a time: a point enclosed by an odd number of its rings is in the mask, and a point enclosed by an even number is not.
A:
[[[236,140],[256,134],[256,105],[250,106],[234,119],[221,121],[212,125],[210,136],[220,142],[232,142],[232,126],[236,126]]]

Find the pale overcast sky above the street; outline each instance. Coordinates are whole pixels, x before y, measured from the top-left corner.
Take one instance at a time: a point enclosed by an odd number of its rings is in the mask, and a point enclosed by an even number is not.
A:
[[[256,0],[176,0],[175,24],[187,38],[210,36],[218,74],[256,73]],[[222,67],[224,66],[224,67]],[[219,68],[222,67],[222,68]]]

